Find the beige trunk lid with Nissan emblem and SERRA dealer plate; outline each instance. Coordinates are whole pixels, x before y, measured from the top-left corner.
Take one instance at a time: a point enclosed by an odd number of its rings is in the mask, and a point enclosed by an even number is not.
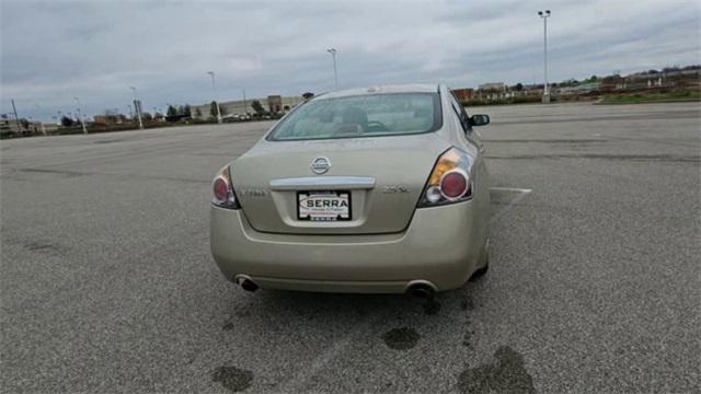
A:
[[[447,148],[434,132],[261,141],[233,162],[231,173],[243,212],[257,231],[391,233],[409,225],[433,165]]]

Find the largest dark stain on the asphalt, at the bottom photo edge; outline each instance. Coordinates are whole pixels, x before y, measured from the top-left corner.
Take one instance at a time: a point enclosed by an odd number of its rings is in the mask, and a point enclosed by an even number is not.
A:
[[[536,393],[524,357],[508,346],[494,354],[495,363],[466,369],[458,378],[462,393]]]

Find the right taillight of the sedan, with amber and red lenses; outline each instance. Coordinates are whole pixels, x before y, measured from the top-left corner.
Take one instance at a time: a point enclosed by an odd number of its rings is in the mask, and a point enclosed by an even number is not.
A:
[[[471,166],[470,155],[457,148],[450,148],[444,152],[428,177],[418,207],[434,207],[470,199],[472,197]]]

